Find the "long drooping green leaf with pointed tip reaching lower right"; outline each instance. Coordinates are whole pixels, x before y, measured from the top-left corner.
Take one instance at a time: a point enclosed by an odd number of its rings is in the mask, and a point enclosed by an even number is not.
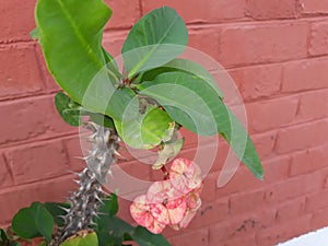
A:
[[[189,130],[202,136],[221,133],[238,159],[256,177],[262,178],[260,160],[245,128],[201,78],[168,72],[138,87],[140,94],[156,99],[175,121]]]

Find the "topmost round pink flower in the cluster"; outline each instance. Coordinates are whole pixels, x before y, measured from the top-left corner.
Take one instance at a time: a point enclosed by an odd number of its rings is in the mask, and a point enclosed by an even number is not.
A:
[[[176,159],[171,166],[169,180],[175,189],[186,195],[201,186],[201,169],[192,161]]]

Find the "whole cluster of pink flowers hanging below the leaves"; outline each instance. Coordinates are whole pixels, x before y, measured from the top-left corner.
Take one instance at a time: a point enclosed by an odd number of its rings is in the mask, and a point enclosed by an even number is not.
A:
[[[134,221],[154,234],[166,225],[186,227],[200,208],[201,169],[194,162],[176,159],[168,179],[152,184],[147,195],[139,196],[130,207]]]

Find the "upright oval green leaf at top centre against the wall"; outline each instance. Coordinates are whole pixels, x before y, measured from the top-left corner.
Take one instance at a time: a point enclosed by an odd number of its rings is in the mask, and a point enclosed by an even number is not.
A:
[[[128,77],[165,65],[187,43],[187,27],[175,10],[163,7],[145,14],[131,28],[121,50]]]

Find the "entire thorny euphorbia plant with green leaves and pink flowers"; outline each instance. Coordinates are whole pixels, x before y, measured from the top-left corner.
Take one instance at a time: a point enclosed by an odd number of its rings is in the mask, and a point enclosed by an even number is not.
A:
[[[177,134],[181,127],[199,136],[221,134],[250,172],[262,178],[254,144],[223,103],[211,74],[178,58],[188,32],[176,11],[168,7],[153,10],[131,28],[121,50],[122,66],[102,46],[110,15],[102,0],[37,1],[34,35],[63,90],[55,97],[56,107],[68,124],[91,130],[92,149],[84,157],[86,167],[78,174],[79,190],[60,204],[62,210],[59,204],[33,203],[15,215],[12,227],[22,237],[42,236],[54,246],[121,245],[127,239],[168,245],[154,234],[166,225],[187,226],[201,204],[201,168],[192,161],[175,159],[184,144]],[[104,197],[102,186],[110,178],[107,175],[120,142],[159,152],[153,168],[163,172],[163,180],[151,185],[130,207],[143,227],[116,218],[116,196]],[[32,232],[21,225],[24,220],[33,224]],[[2,242],[10,245],[12,239],[2,233]]]

